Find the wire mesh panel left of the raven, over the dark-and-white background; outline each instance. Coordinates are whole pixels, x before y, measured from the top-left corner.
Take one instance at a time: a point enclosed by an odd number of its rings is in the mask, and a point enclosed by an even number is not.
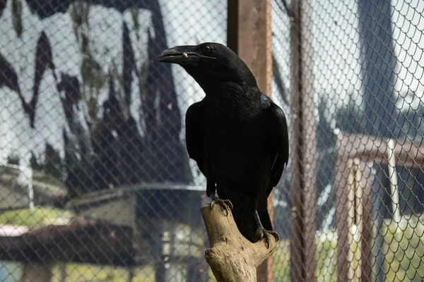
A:
[[[225,44],[226,7],[0,1],[0,281],[209,281],[183,140],[202,92],[156,60]]]

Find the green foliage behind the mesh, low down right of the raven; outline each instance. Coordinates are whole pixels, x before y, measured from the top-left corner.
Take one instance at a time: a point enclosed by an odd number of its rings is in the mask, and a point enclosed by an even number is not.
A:
[[[421,282],[424,277],[424,216],[408,216],[400,223],[386,221],[384,235],[385,282]],[[315,274],[318,282],[337,281],[337,237],[336,231],[317,233]],[[373,244],[373,243],[372,243]],[[351,250],[358,250],[353,242]],[[274,253],[274,280],[290,281],[290,241],[281,240]],[[354,260],[353,268],[358,267]]]

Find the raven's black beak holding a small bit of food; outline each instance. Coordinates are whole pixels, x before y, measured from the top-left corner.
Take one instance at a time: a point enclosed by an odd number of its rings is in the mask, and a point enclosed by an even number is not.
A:
[[[183,65],[198,64],[201,58],[216,59],[201,55],[198,49],[199,47],[191,45],[175,46],[163,51],[158,59],[162,63],[179,63]]]

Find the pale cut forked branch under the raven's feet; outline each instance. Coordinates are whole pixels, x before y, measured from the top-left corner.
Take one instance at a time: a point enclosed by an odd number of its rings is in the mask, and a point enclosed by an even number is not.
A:
[[[211,249],[205,259],[218,282],[256,282],[257,266],[278,247],[271,236],[269,248],[265,239],[257,243],[247,240],[238,230],[232,213],[214,204],[200,209]]]

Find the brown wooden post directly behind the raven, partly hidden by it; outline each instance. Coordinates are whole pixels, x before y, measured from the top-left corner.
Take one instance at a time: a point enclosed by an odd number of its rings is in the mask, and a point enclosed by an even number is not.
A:
[[[249,66],[261,92],[271,95],[271,0],[228,0],[227,44]],[[273,220],[272,194],[268,211]],[[273,281],[273,259],[258,267],[257,281]]]

